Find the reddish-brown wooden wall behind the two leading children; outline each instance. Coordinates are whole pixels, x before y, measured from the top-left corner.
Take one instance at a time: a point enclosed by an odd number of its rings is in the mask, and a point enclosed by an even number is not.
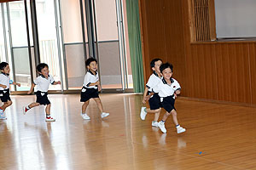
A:
[[[146,12],[142,11],[147,15],[144,36],[149,38],[144,57],[150,60],[163,54],[174,65],[183,96],[256,105],[256,42],[192,43],[188,0],[141,2],[148,3]]]

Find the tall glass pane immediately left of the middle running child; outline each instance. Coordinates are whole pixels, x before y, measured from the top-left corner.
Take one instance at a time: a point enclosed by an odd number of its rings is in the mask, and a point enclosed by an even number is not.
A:
[[[67,61],[68,89],[80,89],[84,82],[85,54],[79,1],[62,0],[61,15]],[[86,24],[85,18],[84,14],[84,24]],[[85,33],[85,38],[87,38],[87,33]]]

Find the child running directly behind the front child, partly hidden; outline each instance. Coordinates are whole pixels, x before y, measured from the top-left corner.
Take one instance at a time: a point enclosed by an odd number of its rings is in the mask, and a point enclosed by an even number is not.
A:
[[[142,107],[141,109],[141,119],[145,120],[147,113],[154,113],[154,121],[152,121],[151,125],[153,127],[158,127],[158,118],[160,116],[160,97],[156,93],[154,94],[154,88],[161,81],[160,75],[160,65],[162,64],[162,59],[153,59],[150,62],[151,69],[153,70],[153,74],[149,77],[148,82],[146,84],[146,88],[143,94],[143,104],[148,100],[150,109],[146,107]]]

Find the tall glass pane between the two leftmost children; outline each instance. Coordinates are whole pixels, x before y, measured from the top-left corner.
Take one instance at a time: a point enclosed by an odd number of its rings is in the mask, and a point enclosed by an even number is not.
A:
[[[16,82],[21,86],[17,87],[18,91],[29,90],[31,87],[31,71],[29,64],[29,55],[27,48],[27,31],[25,6],[23,2],[9,3],[9,17],[11,39],[13,42],[14,67]],[[29,16],[29,18],[31,18]],[[30,33],[30,35],[32,35]]]

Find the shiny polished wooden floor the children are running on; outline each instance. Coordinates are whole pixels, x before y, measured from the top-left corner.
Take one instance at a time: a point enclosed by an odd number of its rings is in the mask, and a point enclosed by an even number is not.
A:
[[[172,117],[167,133],[141,121],[142,95],[101,94],[110,113],[102,120],[94,101],[80,114],[79,94],[49,95],[56,122],[44,122],[44,106],[22,106],[34,96],[11,96],[0,121],[0,169],[256,169],[256,108],[177,99],[177,134]],[[161,116],[164,112],[161,113]]]

